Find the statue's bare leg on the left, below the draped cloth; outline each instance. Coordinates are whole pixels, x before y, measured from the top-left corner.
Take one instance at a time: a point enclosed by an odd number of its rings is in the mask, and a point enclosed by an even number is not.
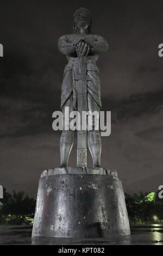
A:
[[[62,113],[63,113],[64,120],[65,120],[65,107],[69,107],[69,113],[74,110],[72,95],[66,101],[64,107],[62,107]],[[73,131],[72,130],[65,131],[65,127],[64,127],[64,129],[62,131],[62,134],[61,134],[61,137],[60,137],[61,168],[66,168],[67,167],[68,158],[70,156],[72,146],[73,146]]]

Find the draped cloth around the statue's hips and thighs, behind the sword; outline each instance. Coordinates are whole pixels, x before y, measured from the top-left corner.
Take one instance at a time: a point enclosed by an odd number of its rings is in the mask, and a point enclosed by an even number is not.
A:
[[[101,107],[101,88],[99,79],[99,70],[95,61],[86,59],[87,75],[90,76],[91,81],[87,81],[87,93],[91,94],[97,105]],[[77,81],[74,77],[78,74],[78,58],[71,58],[65,66],[64,79],[61,87],[61,108],[66,101],[73,94],[73,106],[77,109]]]

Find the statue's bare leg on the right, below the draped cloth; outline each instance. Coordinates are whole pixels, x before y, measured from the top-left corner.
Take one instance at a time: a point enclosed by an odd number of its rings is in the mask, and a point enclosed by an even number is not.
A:
[[[89,111],[97,111],[100,107],[90,94],[87,94]],[[88,146],[93,160],[93,168],[101,167],[101,136],[99,130],[95,130],[95,120],[92,122],[92,130],[88,131]]]

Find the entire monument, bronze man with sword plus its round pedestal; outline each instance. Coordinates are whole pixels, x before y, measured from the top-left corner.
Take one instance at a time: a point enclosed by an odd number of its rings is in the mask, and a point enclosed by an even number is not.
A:
[[[61,36],[58,42],[60,52],[68,59],[62,82],[63,114],[66,107],[69,112],[77,110],[80,114],[87,110],[99,113],[101,108],[96,60],[99,53],[108,50],[108,43],[101,36],[90,34],[91,21],[89,10],[80,8],[74,14],[74,34]],[[77,167],[67,167],[73,131],[64,126],[60,138],[61,168],[41,173],[33,242],[38,241],[35,236],[57,237],[59,241],[61,237],[130,235],[122,183],[116,170],[100,167],[101,137],[96,123],[92,123],[93,130],[77,130]],[[86,167],[87,141],[93,168]]]

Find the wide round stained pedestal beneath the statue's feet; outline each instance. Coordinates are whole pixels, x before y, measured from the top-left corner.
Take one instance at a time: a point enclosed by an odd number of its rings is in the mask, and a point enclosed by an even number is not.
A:
[[[32,236],[129,235],[121,181],[97,168],[45,170],[40,178]]]

